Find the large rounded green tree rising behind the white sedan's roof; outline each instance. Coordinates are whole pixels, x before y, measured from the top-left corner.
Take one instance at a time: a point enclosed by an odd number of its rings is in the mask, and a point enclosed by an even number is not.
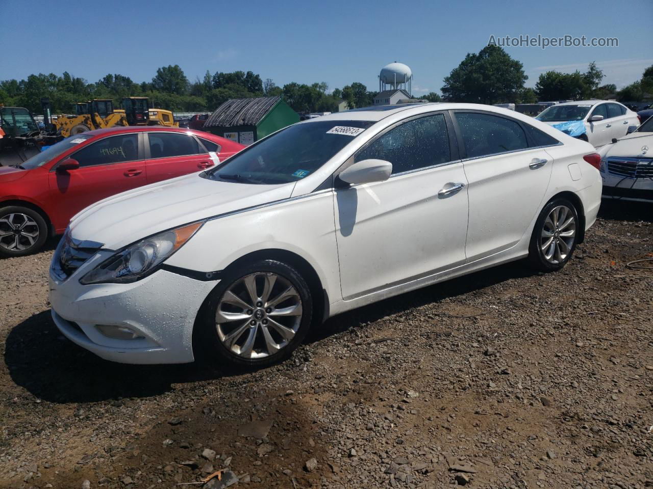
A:
[[[468,53],[458,67],[445,77],[442,95],[451,102],[496,104],[513,102],[528,76],[522,63],[499,46],[485,46]]]

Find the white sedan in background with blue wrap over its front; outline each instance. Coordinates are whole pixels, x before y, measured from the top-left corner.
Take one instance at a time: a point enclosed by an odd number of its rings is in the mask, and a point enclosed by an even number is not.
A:
[[[601,147],[613,138],[626,136],[639,126],[637,113],[619,102],[581,100],[550,106],[536,119],[572,138]]]

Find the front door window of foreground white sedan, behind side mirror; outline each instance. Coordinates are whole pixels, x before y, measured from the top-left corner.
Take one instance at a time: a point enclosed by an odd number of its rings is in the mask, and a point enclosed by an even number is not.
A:
[[[355,161],[370,158],[392,163],[393,175],[450,161],[445,116],[428,115],[390,129],[360,150]]]

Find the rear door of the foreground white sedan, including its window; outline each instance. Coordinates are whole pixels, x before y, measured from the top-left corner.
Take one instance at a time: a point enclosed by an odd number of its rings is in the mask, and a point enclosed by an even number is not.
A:
[[[472,158],[463,164],[470,200],[465,252],[473,261],[524,236],[541,208],[553,165],[544,149],[528,149],[529,140],[513,119],[475,112],[456,112],[455,118]],[[530,138],[532,145],[541,144]]]

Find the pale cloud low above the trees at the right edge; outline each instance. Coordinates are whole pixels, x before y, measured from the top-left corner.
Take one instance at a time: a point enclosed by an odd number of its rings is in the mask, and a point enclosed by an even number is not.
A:
[[[579,70],[581,73],[587,70],[588,65],[594,60],[590,59],[582,63],[572,63],[570,65],[550,65],[546,67],[530,68],[528,75],[528,84],[534,86],[537,78],[541,73],[556,70],[563,73],[574,72]],[[603,70],[605,78],[601,80],[601,85],[614,83],[618,89],[637,82],[642,77],[646,67],[653,64],[653,59],[612,59],[609,61],[596,61],[597,68]]]

